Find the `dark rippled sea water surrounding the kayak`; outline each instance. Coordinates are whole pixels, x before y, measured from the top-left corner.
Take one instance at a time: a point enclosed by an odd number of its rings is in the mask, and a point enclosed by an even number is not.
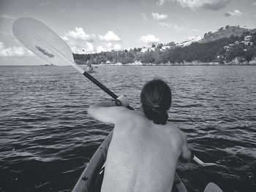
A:
[[[173,90],[169,120],[205,162],[178,164],[189,191],[210,181],[256,191],[255,66],[99,66],[92,74],[139,108],[154,77]],[[110,97],[72,67],[0,66],[0,191],[71,191],[111,126],[86,114]]]

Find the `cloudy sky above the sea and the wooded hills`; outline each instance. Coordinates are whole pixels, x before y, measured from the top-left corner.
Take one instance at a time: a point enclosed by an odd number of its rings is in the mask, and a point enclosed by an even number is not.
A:
[[[256,28],[256,0],[0,0],[0,65],[39,64],[12,34],[21,17],[45,23],[73,53],[99,53]]]

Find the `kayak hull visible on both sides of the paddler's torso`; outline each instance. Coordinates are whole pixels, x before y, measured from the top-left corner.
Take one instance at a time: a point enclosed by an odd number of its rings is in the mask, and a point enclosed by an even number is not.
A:
[[[107,158],[108,147],[112,139],[112,134],[113,132],[111,132],[108,137],[106,137],[106,139],[94,153],[91,161],[89,164],[87,164],[86,169],[78,179],[75,188],[73,188],[73,192],[100,191],[104,176],[104,168],[102,168],[102,166],[105,164],[105,160]],[[172,192],[187,192],[187,188],[185,187],[181,178],[178,176],[177,172],[175,174]]]

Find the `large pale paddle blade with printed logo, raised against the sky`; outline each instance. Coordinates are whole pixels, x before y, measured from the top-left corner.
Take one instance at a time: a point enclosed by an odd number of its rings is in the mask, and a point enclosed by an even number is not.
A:
[[[12,32],[25,47],[49,64],[68,66],[74,62],[69,45],[39,20],[18,18]]]

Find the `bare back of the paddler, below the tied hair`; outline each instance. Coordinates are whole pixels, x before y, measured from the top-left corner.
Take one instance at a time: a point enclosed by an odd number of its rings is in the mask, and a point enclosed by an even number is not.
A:
[[[170,192],[183,137],[170,123],[157,125],[142,112],[123,112],[108,149],[102,192]]]

